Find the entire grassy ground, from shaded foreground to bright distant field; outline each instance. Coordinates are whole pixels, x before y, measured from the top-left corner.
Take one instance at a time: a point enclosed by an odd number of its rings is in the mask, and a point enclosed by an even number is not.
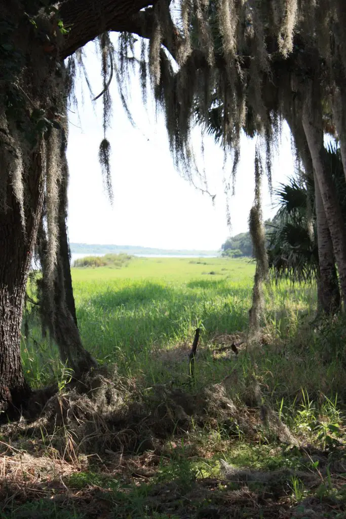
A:
[[[254,271],[226,258],[73,268],[101,367],[80,396],[30,317],[25,372],[58,382],[62,419],[0,431],[0,517],[345,517],[345,321],[316,320],[315,288],[282,283],[247,347]]]

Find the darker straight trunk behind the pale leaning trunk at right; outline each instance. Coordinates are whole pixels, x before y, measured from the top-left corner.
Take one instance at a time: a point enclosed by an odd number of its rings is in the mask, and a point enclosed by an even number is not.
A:
[[[319,248],[320,279],[317,280],[317,299],[321,310],[334,314],[340,308],[340,290],[335,266],[333,243],[323,207],[319,183],[314,175],[317,244]]]

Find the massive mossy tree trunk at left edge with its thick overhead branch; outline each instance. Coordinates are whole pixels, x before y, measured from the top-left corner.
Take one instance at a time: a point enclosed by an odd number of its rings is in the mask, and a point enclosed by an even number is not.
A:
[[[21,365],[21,324],[45,175],[51,167],[44,139],[51,125],[59,127],[59,111],[64,112],[66,103],[62,60],[153,2],[62,0],[58,16],[56,2],[44,4],[0,2],[0,411],[19,408],[30,392]],[[60,32],[59,20],[67,34]],[[66,327],[73,330],[71,341],[80,351],[71,301],[62,305],[62,312],[67,307],[71,311],[62,313],[67,317],[57,325],[57,337],[68,336]]]

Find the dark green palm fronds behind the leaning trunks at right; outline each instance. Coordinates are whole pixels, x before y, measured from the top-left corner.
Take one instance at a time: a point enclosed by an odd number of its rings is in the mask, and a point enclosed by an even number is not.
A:
[[[340,149],[335,143],[324,148],[323,163],[333,179],[344,218],[346,182]],[[268,259],[276,282],[281,279],[316,281],[319,306],[329,313],[340,307],[340,290],[333,250],[326,251],[330,242],[329,229],[328,225],[323,225],[325,213],[321,195],[316,194],[316,189],[318,185],[314,182],[314,175],[304,173],[299,180],[290,179],[287,185],[281,184],[276,190],[279,210],[267,232]],[[324,236],[326,233],[327,237]],[[329,241],[324,238],[329,238]]]

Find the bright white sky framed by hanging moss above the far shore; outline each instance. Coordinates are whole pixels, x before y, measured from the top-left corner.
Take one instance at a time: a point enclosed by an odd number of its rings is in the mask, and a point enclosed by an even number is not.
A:
[[[100,64],[94,45],[86,47],[86,65],[94,94],[102,90]],[[77,81],[80,92],[81,81]],[[255,143],[241,143],[241,161],[237,173],[236,195],[230,199],[231,229],[227,226],[223,187],[224,176],[231,173],[231,160],[223,170],[223,151],[213,139],[204,138],[204,164],[211,198],[203,195],[179,176],[173,167],[163,117],[156,116],[154,104],[143,106],[139,81],[133,78],[130,108],[136,124],[133,128],[121,106],[116,80],[110,87],[113,97],[112,181],[114,206],[104,193],[98,148],[102,140],[102,99],[92,103],[84,88],[84,105],[79,115],[68,113],[70,135],[67,158],[70,166],[68,190],[68,232],[71,242],[141,245],[164,249],[217,250],[231,234],[247,230],[247,217],[254,199]],[[80,99],[80,95],[79,95]],[[74,126],[75,125],[75,126]],[[78,128],[79,127],[79,128]],[[202,165],[199,130],[193,135],[195,153]],[[280,154],[273,165],[273,187],[294,173],[290,135],[284,128]],[[196,185],[201,185],[198,180]],[[263,185],[264,217],[275,208]]]

